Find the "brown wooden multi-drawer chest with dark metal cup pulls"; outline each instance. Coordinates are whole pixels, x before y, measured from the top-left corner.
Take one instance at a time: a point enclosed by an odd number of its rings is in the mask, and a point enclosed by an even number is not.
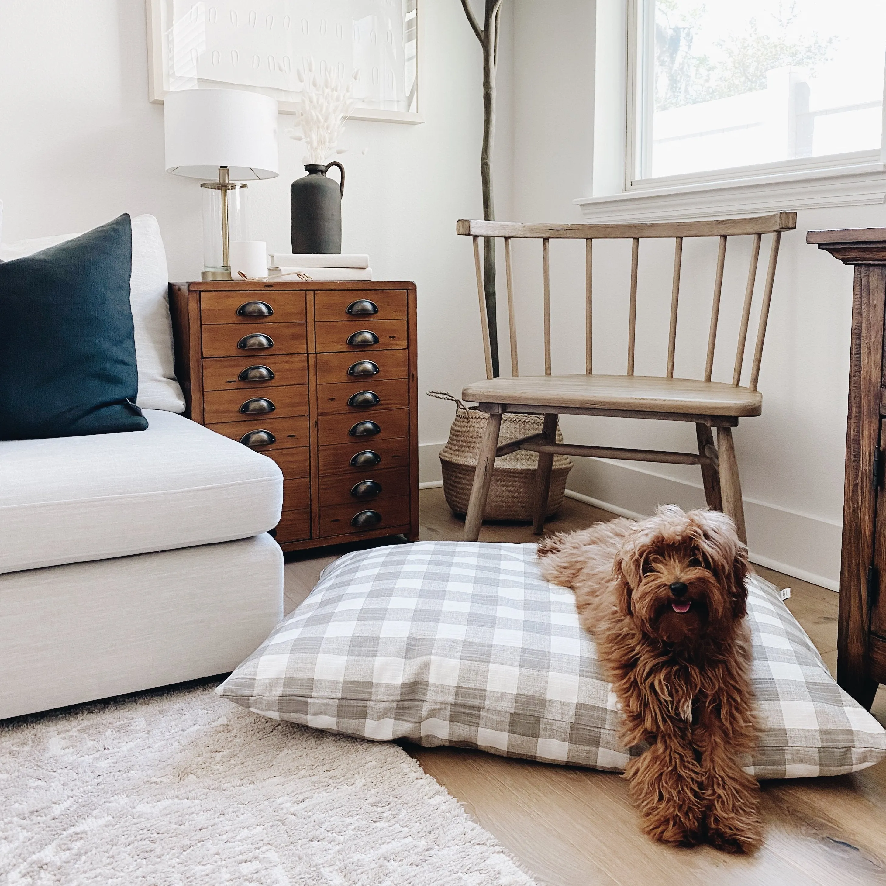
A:
[[[187,415],[283,470],[286,551],[418,538],[416,287],[169,284]]]

